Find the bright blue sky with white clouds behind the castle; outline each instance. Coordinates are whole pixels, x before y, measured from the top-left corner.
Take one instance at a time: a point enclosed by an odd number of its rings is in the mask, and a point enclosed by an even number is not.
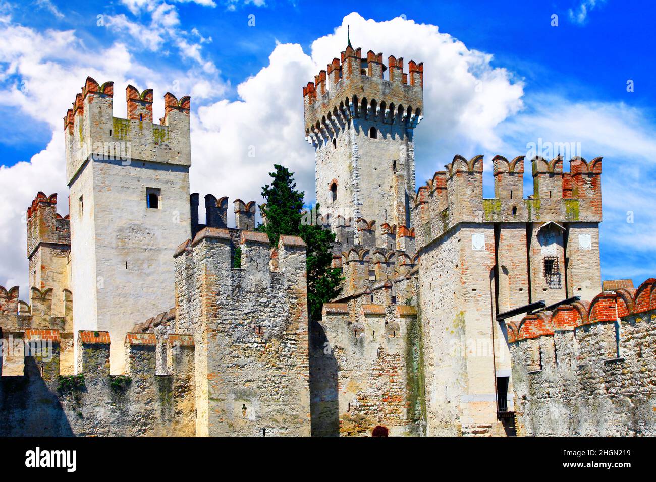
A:
[[[425,62],[418,185],[456,153],[482,153],[491,197],[493,155],[525,154],[527,143],[539,139],[580,143],[586,159],[604,156],[602,277],[640,283],[656,274],[651,3],[320,5],[0,2],[0,113],[10,125],[0,137],[0,202],[7,212],[0,245],[9,247],[0,258],[0,285],[26,285],[24,211],[36,191],[58,192],[60,212],[67,212],[61,119],[89,74],[115,81],[116,92],[127,83],[153,88],[156,118],[166,90],[192,95],[192,191],[259,200],[266,172],[283,163],[312,202],[301,87],[344,48],[346,24],[364,51]],[[125,114],[120,98],[117,116]],[[246,154],[249,146],[256,146],[255,159]]]

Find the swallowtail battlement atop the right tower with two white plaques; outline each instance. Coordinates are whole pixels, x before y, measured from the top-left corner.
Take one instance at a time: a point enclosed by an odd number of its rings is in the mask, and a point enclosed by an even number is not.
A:
[[[424,245],[460,222],[601,222],[602,158],[588,163],[582,157],[545,161],[535,157],[535,193],[523,198],[523,156],[493,159],[495,198],[483,199],[483,156],[467,161],[456,155],[433,178],[420,186],[414,199],[413,220],[419,245]]]

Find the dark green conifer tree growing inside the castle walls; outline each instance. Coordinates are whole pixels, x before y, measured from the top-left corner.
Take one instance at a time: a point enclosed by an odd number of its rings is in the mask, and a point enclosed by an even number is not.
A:
[[[266,216],[266,226],[258,230],[267,233],[269,240],[277,245],[281,234],[300,236],[306,245],[308,270],[308,315],[310,319],[321,319],[324,302],[333,300],[340,292],[341,273],[331,268],[333,253],[331,243],[335,234],[314,224],[302,224],[302,191],[296,190],[294,173],[279,164],[276,172],[270,172],[273,182],[262,187],[262,197],[266,205],[260,211]],[[316,206],[319,211],[319,206]]]

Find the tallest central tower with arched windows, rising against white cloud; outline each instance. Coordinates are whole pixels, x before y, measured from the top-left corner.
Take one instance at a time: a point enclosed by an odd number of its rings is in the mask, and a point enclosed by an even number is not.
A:
[[[410,224],[415,193],[413,131],[423,108],[423,64],[350,42],[303,88],[305,135],[316,148],[316,199],[334,227],[338,216]],[[388,71],[387,78],[384,71]]]

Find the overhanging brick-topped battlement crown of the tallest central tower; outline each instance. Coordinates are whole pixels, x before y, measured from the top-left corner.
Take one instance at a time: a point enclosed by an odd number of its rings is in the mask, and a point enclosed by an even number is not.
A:
[[[385,79],[382,53],[361,55],[349,45],[303,87],[305,135],[314,144],[354,118],[412,127],[422,118],[424,64],[411,60],[404,73],[403,58],[389,56]]]

